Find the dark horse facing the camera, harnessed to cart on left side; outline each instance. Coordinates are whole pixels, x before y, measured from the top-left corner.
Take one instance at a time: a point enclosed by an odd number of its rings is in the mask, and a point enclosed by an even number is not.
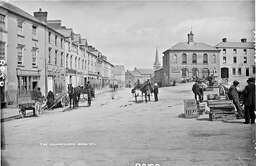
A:
[[[72,84],[68,84],[68,94],[70,99],[70,109],[73,102],[73,109],[79,106],[80,86],[73,88]]]

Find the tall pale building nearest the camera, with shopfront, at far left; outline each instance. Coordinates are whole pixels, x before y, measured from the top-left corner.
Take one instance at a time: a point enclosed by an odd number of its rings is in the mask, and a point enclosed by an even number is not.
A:
[[[1,89],[7,102],[16,103],[37,87],[45,95],[46,23],[9,3],[0,6],[0,18],[0,54],[7,63]]]

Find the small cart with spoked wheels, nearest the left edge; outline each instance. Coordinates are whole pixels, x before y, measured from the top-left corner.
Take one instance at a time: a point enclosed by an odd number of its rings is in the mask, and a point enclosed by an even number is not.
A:
[[[28,91],[24,94],[17,94],[17,103],[21,117],[26,116],[26,110],[33,110],[34,116],[40,116],[46,108],[46,102],[43,98],[37,98],[35,92]]]

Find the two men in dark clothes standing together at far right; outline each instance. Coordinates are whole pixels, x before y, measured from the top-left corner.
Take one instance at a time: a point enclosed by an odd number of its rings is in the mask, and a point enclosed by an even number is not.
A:
[[[233,103],[238,112],[237,118],[243,119],[242,115],[242,106],[240,103],[240,99],[242,98],[242,105],[244,105],[244,119],[245,124],[254,124],[255,123],[255,78],[249,78],[247,80],[247,86],[242,91],[239,96],[237,86],[240,83],[238,81],[234,81],[233,85],[228,90],[228,97],[230,100],[233,100]]]

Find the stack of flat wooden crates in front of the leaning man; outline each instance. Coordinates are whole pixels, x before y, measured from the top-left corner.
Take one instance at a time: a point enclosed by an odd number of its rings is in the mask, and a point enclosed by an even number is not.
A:
[[[208,107],[210,121],[236,119],[235,107],[231,100],[208,100]]]

